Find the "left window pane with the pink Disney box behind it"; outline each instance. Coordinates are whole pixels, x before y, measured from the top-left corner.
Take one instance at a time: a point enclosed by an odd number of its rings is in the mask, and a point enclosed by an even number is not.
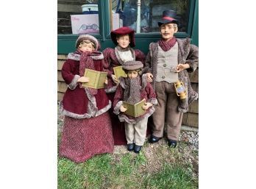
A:
[[[58,0],[58,34],[99,33],[98,1]]]

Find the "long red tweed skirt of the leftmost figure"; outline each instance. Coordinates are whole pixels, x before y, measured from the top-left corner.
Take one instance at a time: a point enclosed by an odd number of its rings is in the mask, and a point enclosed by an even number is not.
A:
[[[109,113],[96,118],[65,116],[59,155],[76,163],[95,154],[113,153],[114,140]]]

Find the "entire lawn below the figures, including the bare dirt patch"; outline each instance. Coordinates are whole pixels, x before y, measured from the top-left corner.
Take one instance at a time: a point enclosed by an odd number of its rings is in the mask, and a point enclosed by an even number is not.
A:
[[[62,120],[58,120],[60,143]],[[115,146],[113,154],[100,154],[85,163],[58,157],[58,189],[82,188],[198,188],[198,146],[182,136],[176,149],[166,140],[146,143],[140,154]]]

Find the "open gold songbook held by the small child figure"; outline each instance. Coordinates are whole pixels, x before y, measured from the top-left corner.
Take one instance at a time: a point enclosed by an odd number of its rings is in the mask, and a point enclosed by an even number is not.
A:
[[[144,110],[142,107],[145,105],[146,100],[143,99],[142,101],[139,101],[136,104],[130,104],[126,101],[123,101],[123,106],[127,108],[127,110],[124,112],[126,115],[130,115],[132,117],[137,118],[138,116],[143,115],[146,110]]]

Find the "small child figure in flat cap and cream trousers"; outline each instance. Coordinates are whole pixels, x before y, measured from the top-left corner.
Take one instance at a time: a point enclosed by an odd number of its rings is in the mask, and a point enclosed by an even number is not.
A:
[[[146,74],[143,76],[138,74],[143,68],[140,61],[127,61],[123,64],[123,68],[127,78],[120,78],[120,85],[115,92],[113,102],[114,113],[118,115],[121,122],[124,121],[128,151],[134,150],[135,153],[139,153],[146,138],[148,118],[154,113],[153,104],[157,104],[157,99],[152,85],[146,81]],[[126,114],[127,108],[124,107],[124,101],[137,104],[143,99],[146,100],[142,107],[146,110],[145,113],[138,117]]]

